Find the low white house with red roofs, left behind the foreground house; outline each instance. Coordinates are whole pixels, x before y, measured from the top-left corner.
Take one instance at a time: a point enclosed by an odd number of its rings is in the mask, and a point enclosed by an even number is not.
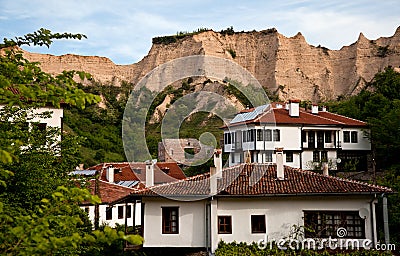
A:
[[[152,175],[149,175],[150,172]],[[138,188],[186,178],[182,169],[173,162],[102,163],[86,170],[75,170],[70,174],[92,177],[89,189],[100,197],[102,203],[99,206],[83,203],[81,208],[88,213],[93,224],[97,221],[100,225],[107,224],[111,227],[116,224],[129,227],[141,224],[140,202],[110,205],[111,202],[134,193]],[[98,180],[95,179],[96,175]]]

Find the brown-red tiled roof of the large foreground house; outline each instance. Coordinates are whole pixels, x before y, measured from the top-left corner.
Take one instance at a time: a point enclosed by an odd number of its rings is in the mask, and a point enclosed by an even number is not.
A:
[[[324,176],[284,167],[285,179],[276,178],[276,165],[240,164],[226,168],[217,196],[349,195],[393,193],[392,189],[364,182]],[[204,196],[210,190],[209,173],[134,192],[140,196]]]

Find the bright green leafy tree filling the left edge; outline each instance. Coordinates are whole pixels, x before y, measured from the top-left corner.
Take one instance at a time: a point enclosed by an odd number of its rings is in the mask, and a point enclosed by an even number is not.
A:
[[[0,44],[1,255],[91,255],[117,240],[142,242],[139,236],[125,236],[111,228],[92,231],[78,204],[99,203],[99,198],[77,188],[68,176],[78,161],[79,140],[64,134],[61,142],[59,129],[42,131],[34,123],[27,125],[38,106],[66,103],[84,108],[100,97],[85,93],[76,82],[89,79],[89,74],[64,71],[52,76],[16,47],[49,46],[53,39],[83,37],[41,29]]]

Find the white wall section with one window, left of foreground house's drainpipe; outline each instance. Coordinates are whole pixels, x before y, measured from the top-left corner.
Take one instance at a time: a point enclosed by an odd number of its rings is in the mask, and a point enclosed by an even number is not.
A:
[[[205,247],[205,201],[145,199],[144,247]],[[162,207],[179,207],[179,233],[162,234]]]

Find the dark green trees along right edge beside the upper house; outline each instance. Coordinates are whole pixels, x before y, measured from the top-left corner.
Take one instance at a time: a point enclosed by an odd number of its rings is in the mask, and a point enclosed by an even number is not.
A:
[[[330,110],[364,120],[370,132],[366,134],[375,153],[377,171],[385,173],[378,184],[395,191],[400,188],[400,73],[388,67],[377,73],[368,90],[339,102],[328,104]],[[393,241],[400,239],[400,197],[389,195],[390,233]]]

